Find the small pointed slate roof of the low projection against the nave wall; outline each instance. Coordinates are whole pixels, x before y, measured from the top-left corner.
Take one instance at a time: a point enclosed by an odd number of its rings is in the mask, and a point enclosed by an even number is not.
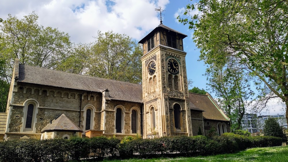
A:
[[[41,133],[45,131],[76,131],[83,132],[77,127],[65,114],[61,114],[49,123],[46,127],[41,130]]]

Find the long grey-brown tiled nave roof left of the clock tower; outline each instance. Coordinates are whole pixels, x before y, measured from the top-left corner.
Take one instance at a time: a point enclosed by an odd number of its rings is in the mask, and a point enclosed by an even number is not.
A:
[[[108,88],[111,99],[142,103],[141,84],[72,74],[41,67],[20,64],[18,82],[100,93]]]

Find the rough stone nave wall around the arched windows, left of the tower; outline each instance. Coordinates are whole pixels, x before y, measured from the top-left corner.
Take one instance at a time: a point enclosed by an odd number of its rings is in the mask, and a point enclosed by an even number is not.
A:
[[[81,101],[80,112],[80,128],[83,129],[84,108],[86,106],[94,107],[94,127],[93,129],[106,129],[106,133],[114,133],[114,108],[117,105],[122,105],[125,108],[124,112],[124,132],[129,134],[131,130],[131,108],[137,107],[139,113],[138,121],[141,121],[140,108],[141,103],[131,103],[125,101],[110,101],[107,103],[106,109],[106,123],[104,125],[104,112],[102,111],[102,93],[83,93],[83,91],[55,88],[49,86],[37,86],[31,84],[18,83],[15,87],[17,91],[14,94],[12,103],[11,116],[9,117],[9,132],[21,132],[22,122],[24,121],[23,108],[24,102],[27,99],[35,100],[37,104],[38,113],[35,120],[35,133],[41,133],[41,130],[54,120],[60,114],[65,114],[75,125],[79,126],[79,107]],[[81,97],[82,94],[82,97]],[[92,123],[91,123],[92,124]],[[138,124],[139,130],[140,124]],[[10,139],[14,137],[9,134]],[[23,135],[22,135],[23,136]],[[15,137],[21,137],[16,135]]]

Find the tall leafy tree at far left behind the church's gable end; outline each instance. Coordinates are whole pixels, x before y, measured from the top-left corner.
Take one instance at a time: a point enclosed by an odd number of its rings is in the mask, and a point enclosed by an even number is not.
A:
[[[11,77],[15,58],[21,64],[55,68],[67,56],[69,35],[37,23],[35,12],[19,20],[8,15],[0,26],[0,52],[8,66],[6,75]],[[10,81],[10,80],[9,80]]]

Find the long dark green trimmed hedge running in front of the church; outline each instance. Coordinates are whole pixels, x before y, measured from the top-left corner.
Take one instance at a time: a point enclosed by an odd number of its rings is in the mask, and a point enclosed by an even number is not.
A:
[[[0,142],[0,161],[69,161],[81,158],[148,158],[233,153],[253,147],[281,146],[282,139],[271,136],[247,137],[224,133],[212,139],[202,135],[120,140],[116,138],[74,137],[70,140],[10,140]]]

